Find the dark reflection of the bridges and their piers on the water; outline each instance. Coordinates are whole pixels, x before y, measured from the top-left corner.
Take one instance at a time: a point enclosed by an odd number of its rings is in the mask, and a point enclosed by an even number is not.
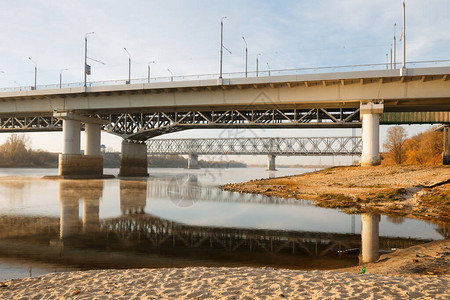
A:
[[[26,237],[29,248],[24,251],[17,246],[16,255],[87,268],[271,265],[307,269],[356,265],[357,256],[345,254],[355,248],[361,248],[359,260],[369,262],[378,259],[380,249],[404,248],[424,242],[379,237],[378,215],[361,216],[362,233],[359,235],[196,226],[145,213],[147,199],[156,197],[168,198],[179,206],[197,201],[309,203],[224,192],[213,186],[200,186],[195,176],[173,177],[169,182],[120,181],[121,215],[113,218],[100,218],[100,202],[107,201],[102,199],[102,180],[58,184],[59,220],[12,216],[0,219],[2,239]],[[448,236],[446,229],[442,230],[442,234]]]

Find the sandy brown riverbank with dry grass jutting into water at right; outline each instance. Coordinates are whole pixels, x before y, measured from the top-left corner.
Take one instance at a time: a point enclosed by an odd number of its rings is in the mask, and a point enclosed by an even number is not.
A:
[[[227,184],[240,193],[313,200],[348,213],[381,213],[450,223],[450,166],[335,167]]]

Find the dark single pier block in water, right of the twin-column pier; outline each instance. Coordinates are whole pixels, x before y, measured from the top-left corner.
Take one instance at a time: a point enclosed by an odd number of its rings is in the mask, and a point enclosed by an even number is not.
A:
[[[119,177],[147,177],[147,145],[122,141]]]

